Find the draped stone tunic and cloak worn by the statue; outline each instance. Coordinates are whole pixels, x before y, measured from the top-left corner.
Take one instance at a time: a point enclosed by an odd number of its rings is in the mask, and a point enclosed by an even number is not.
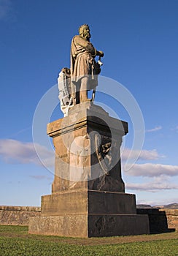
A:
[[[88,78],[86,89],[94,89],[98,85],[96,78],[96,49],[88,40],[77,35],[71,41],[71,78],[79,82],[81,78]]]

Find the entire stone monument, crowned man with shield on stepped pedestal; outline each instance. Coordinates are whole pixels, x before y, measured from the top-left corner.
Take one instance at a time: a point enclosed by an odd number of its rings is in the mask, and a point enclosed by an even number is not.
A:
[[[52,194],[42,196],[41,217],[30,219],[29,233],[84,238],[149,233],[148,217],[136,214],[135,195],[125,193],[121,174],[128,123],[94,104],[103,56],[90,43],[89,26],[80,26],[71,41],[71,68],[58,77],[64,117],[47,124],[55,147]]]

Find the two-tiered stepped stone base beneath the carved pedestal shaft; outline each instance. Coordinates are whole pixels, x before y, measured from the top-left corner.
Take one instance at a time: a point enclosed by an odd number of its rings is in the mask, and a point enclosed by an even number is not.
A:
[[[78,190],[42,196],[42,217],[29,233],[71,236],[130,236],[149,233],[147,215],[136,215],[135,195]]]

